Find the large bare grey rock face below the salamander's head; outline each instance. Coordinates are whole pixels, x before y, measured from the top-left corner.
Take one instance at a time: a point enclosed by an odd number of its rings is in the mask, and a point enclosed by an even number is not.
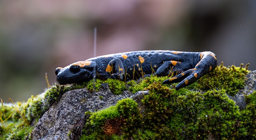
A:
[[[33,140],[66,140],[68,133],[78,120],[84,118],[86,111],[95,112],[116,104],[118,100],[132,94],[124,91],[116,96],[110,92],[107,84],[102,84],[98,92],[89,92],[86,88],[70,90],[62,95],[59,102],[44,113],[32,131]],[[100,99],[99,96],[103,98]]]

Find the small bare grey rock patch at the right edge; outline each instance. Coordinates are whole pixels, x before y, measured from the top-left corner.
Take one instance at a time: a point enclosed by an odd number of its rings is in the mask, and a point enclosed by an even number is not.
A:
[[[244,88],[239,90],[239,92],[235,96],[228,97],[239,106],[240,109],[246,108],[247,104],[244,100],[245,95],[250,95],[256,90],[256,70],[249,72],[246,75]]]

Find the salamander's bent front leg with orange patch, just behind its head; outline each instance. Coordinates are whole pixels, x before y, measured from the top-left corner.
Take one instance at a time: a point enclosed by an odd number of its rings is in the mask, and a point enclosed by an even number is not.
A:
[[[122,60],[119,58],[111,60],[106,67],[106,72],[109,72],[110,77],[113,79],[124,80],[125,75]]]

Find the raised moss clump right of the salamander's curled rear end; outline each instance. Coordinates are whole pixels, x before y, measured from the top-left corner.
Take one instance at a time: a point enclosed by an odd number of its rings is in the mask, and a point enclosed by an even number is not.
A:
[[[227,68],[222,63],[189,87],[203,91],[218,88],[226,90],[227,94],[234,96],[239,89],[244,87],[244,77],[249,72],[248,64],[245,68],[242,66],[243,64],[240,67],[233,65]]]

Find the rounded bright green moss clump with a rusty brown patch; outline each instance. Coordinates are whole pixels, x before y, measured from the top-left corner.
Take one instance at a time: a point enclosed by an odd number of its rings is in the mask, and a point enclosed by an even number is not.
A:
[[[116,106],[95,113],[86,112],[86,116],[89,119],[86,121],[81,140],[111,139],[121,134],[123,138],[129,138],[132,136],[132,130],[140,125],[141,118],[137,103],[130,98],[120,100]]]

